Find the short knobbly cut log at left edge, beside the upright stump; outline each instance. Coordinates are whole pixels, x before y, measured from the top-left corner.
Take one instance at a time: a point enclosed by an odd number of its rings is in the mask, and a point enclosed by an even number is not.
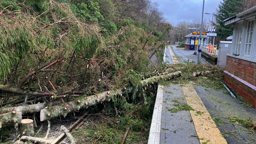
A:
[[[5,114],[0,114],[0,128],[17,125],[21,122],[22,114],[20,111],[8,112]]]

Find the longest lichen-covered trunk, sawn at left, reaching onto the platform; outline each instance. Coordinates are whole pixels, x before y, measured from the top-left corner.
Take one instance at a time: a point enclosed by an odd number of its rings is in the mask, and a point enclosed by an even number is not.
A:
[[[166,74],[166,75],[161,75],[161,76],[154,76],[145,80],[142,80],[140,82],[141,86],[148,85],[150,83],[155,83],[163,79],[169,79],[169,78],[177,78],[181,76],[181,71],[177,71],[174,73]],[[129,89],[127,89],[129,91]],[[40,111],[40,121],[44,120],[49,120],[51,118],[58,117],[60,115],[66,116],[68,113],[73,112],[73,111],[79,111],[80,109],[83,108],[88,108],[89,106],[96,105],[98,103],[101,103],[103,101],[110,101],[110,99],[114,96],[117,96],[119,94],[122,94],[123,91],[121,90],[116,90],[116,91],[106,91],[103,93],[99,93],[96,95],[91,95],[84,97],[83,99],[80,99],[80,102],[77,100],[73,100],[70,102],[66,103],[66,106],[64,104],[59,104],[56,106],[48,107],[48,108],[43,108]],[[65,107],[69,107],[69,110],[65,110]]]

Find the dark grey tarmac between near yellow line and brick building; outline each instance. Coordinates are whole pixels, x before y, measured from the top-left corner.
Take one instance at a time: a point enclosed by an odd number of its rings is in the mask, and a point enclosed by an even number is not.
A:
[[[239,100],[225,94],[225,90],[215,90],[202,86],[194,86],[212,118],[220,118],[224,123],[215,121],[228,144],[256,144],[255,134],[238,123],[229,122],[229,117],[256,120],[256,110],[244,107]]]

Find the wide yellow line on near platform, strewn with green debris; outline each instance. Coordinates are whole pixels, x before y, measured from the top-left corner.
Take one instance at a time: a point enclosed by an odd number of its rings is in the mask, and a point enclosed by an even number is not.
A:
[[[200,143],[208,142],[208,144],[227,144],[227,141],[221,135],[220,130],[212,120],[211,115],[207,111],[193,85],[187,84],[182,86],[182,90],[187,104],[194,109],[194,111],[190,110],[190,114]],[[200,114],[198,114],[197,111]]]

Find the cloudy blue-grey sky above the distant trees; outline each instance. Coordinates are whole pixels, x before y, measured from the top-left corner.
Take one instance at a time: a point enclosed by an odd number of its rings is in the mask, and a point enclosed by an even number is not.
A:
[[[176,25],[180,21],[193,21],[202,18],[203,0],[151,0],[159,4],[160,11],[167,21]],[[205,0],[204,13],[216,13],[222,0]],[[212,15],[204,14],[204,19]]]

